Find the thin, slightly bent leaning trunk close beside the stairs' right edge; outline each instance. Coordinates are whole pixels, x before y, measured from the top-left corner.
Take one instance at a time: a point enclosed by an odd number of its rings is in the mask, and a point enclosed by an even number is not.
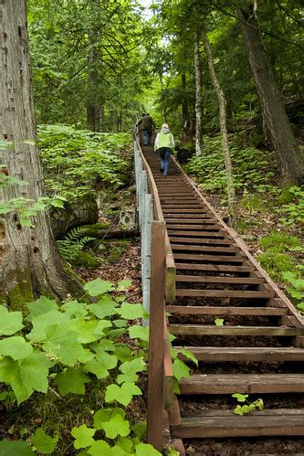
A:
[[[207,55],[210,77],[211,77],[212,85],[215,88],[215,93],[216,93],[217,100],[218,100],[219,122],[220,122],[220,129],[221,129],[221,135],[222,135],[222,149],[223,149],[223,154],[224,154],[224,159],[225,159],[225,175],[226,175],[226,181],[227,181],[229,218],[230,218],[230,223],[232,225],[234,225],[236,223],[236,191],[235,191],[235,186],[234,186],[234,178],[233,178],[233,172],[232,172],[232,164],[231,164],[227,126],[226,126],[225,95],[216,78],[214,58],[213,58],[212,51],[211,51],[211,48],[209,45],[207,34],[205,33],[205,30],[204,30],[204,25],[202,27],[202,36],[204,39],[204,49],[205,49],[205,52]]]

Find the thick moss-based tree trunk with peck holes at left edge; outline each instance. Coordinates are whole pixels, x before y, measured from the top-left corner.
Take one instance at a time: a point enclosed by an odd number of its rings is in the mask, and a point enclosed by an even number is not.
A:
[[[33,92],[26,30],[26,0],[0,4],[2,17],[2,116],[4,164],[7,175],[27,186],[5,185],[4,202],[25,197],[37,201],[43,195],[43,175],[37,147]],[[22,227],[18,214],[10,212],[0,220],[3,255],[0,290],[13,308],[21,308],[33,296],[47,294],[63,299],[80,292],[80,284],[64,270],[50,228],[47,211],[31,217],[34,227]]]

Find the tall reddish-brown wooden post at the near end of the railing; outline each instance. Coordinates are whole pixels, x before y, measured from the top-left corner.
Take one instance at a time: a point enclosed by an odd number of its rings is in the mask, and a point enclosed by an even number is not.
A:
[[[162,450],[163,331],[164,331],[164,222],[152,222],[151,300],[148,371],[148,442]]]

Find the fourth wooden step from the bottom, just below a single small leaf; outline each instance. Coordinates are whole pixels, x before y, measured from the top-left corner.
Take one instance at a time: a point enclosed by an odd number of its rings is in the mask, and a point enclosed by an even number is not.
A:
[[[251,335],[277,337],[291,337],[304,334],[304,328],[290,328],[288,326],[216,326],[215,324],[168,324],[171,334],[191,335]]]

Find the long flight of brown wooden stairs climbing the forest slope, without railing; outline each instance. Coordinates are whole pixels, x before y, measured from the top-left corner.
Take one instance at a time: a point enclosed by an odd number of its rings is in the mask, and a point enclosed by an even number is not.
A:
[[[189,362],[184,347],[198,360],[180,381],[178,397],[167,398],[172,438],[304,437],[303,317],[178,164],[172,160],[164,177],[158,155],[143,153],[176,268],[175,302],[165,308],[168,330],[179,357]],[[264,410],[237,416],[234,393],[263,398]],[[217,408],[222,397],[224,408]],[[190,414],[183,409],[188,401]]]

